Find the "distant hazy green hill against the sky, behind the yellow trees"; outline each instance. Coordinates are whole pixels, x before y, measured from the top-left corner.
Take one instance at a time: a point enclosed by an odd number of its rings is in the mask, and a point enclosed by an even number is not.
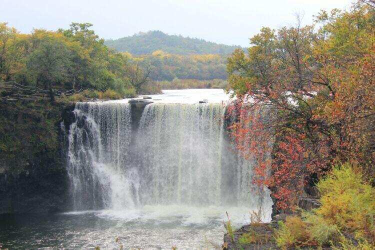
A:
[[[170,35],[160,30],[139,32],[115,40],[109,39],[105,40],[104,44],[117,51],[127,51],[135,55],[149,54],[155,50],[173,54],[230,54],[235,48],[240,47],[182,35]]]

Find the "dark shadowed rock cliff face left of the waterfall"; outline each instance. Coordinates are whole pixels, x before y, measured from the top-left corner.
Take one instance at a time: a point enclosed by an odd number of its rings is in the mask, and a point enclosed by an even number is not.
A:
[[[74,104],[0,100],[0,213],[66,210],[64,132]]]

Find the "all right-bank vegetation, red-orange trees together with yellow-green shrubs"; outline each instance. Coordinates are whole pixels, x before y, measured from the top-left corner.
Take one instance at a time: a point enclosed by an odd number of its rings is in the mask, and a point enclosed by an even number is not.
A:
[[[274,214],[290,214],[269,224],[268,241],[284,249],[373,249],[375,1],[321,11],[312,25],[297,18],[294,26],[263,27],[250,43],[247,54],[237,49],[228,58],[228,90],[242,97],[232,109],[244,119],[264,109],[272,117],[230,128],[242,155],[256,157],[254,181],[270,188]],[[301,197],[313,194],[320,206],[301,212]],[[234,248],[268,242],[251,235],[229,241]]]

